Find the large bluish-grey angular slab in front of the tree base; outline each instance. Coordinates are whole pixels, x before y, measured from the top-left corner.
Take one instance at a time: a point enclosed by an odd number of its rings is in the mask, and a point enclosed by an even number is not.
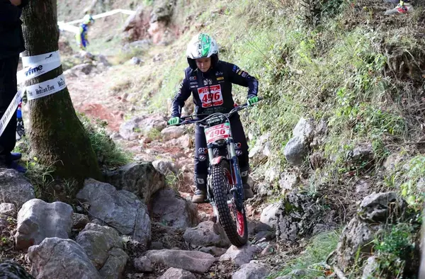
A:
[[[77,199],[89,203],[90,215],[114,227],[121,234],[132,235],[147,244],[151,239],[151,224],[147,207],[137,196],[126,190],[116,190],[111,184],[86,179]]]

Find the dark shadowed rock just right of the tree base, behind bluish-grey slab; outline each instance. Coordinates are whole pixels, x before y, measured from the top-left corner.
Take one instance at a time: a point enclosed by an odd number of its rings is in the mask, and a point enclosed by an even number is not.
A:
[[[165,187],[165,177],[152,163],[130,163],[117,171],[106,173],[106,182],[118,190],[128,190],[148,204],[152,195]]]

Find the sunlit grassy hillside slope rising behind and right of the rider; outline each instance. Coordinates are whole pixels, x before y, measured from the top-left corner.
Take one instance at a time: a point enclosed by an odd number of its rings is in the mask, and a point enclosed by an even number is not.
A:
[[[157,2],[144,4],[154,8]],[[105,3],[98,1],[94,11],[137,7],[133,1]],[[251,150],[258,147],[262,152],[265,146],[269,150],[263,156],[252,154],[257,196],[251,205],[280,203],[288,193],[297,192],[314,200],[317,220],[334,214],[330,229],[336,232],[313,238],[308,249],[302,243],[312,237],[314,222],[303,223],[297,239],[284,244],[295,253],[307,252],[298,260],[285,258],[271,277],[297,268],[307,270],[303,278],[324,275],[314,263],[336,249],[341,227],[358,215],[356,202],[373,192],[392,191],[406,201],[407,215],[386,220],[385,233],[374,234],[373,245],[367,246],[367,252],[359,249],[344,273],[360,278],[367,259],[377,256],[378,268],[371,273],[375,278],[414,278],[425,192],[424,1],[413,3],[414,13],[396,16],[383,15],[391,4],[370,1],[170,3],[176,7],[175,39],[137,52],[144,63],[136,68],[123,64],[130,56],[108,52],[116,60],[115,79],[108,80],[108,89],[98,90],[130,96],[134,109],[120,108],[125,119],[166,113],[164,104],[183,77],[189,38],[199,31],[210,33],[220,44],[220,59],[256,76],[260,94],[267,97],[242,115]],[[61,18],[82,15],[85,7],[70,6],[74,4],[58,2]],[[121,47],[125,20],[116,16],[98,21],[89,51],[100,54]],[[109,35],[114,39],[106,40]],[[245,100],[246,89],[235,88],[234,93],[239,103]],[[288,146],[294,142],[293,129],[300,119],[309,123],[311,131],[297,154],[302,164],[294,164],[288,160]],[[268,137],[261,139],[263,135]],[[289,178],[293,183],[285,183]]]

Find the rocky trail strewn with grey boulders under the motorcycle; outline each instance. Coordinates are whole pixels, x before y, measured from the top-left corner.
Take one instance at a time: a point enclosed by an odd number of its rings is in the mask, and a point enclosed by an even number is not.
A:
[[[106,171],[105,182],[86,180],[73,206],[36,199],[21,174],[1,169],[1,258],[13,258],[36,278],[266,278],[305,248],[304,237],[336,229],[338,212],[292,192],[299,178],[281,173],[280,186],[288,194],[265,204],[267,181],[256,183],[256,197],[247,202],[249,244],[231,246],[220,224],[212,222],[210,205],[191,203],[191,130],[166,127],[166,115],[160,113],[125,120],[132,110],[126,96],[104,90],[113,74],[114,67],[96,57],[69,69],[67,84],[75,108],[108,121],[111,137],[132,152],[135,162]],[[301,119],[285,155],[300,160],[297,145],[314,140],[320,130]],[[268,156],[267,149],[264,135],[251,151],[253,161]],[[335,265],[351,265],[387,216],[402,215],[404,208],[395,193],[366,197],[341,236]],[[336,276],[336,266],[322,264]],[[373,259],[370,265],[373,270]]]

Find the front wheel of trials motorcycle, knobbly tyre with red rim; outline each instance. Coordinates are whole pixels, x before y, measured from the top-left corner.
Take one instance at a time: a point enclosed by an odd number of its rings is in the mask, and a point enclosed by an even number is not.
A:
[[[232,174],[227,161],[212,166],[211,185],[217,205],[220,224],[234,246],[244,246],[248,240],[248,225],[246,222],[245,207],[242,212],[237,210],[230,193],[232,188]]]

